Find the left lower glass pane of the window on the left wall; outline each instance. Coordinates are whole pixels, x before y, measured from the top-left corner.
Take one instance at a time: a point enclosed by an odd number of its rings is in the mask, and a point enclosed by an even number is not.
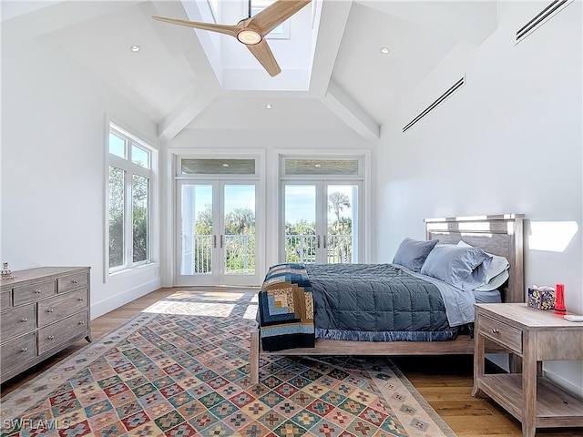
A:
[[[124,265],[125,177],[124,170],[109,166],[109,268]]]

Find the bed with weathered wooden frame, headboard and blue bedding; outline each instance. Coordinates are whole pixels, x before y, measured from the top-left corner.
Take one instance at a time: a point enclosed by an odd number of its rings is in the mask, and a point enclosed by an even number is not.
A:
[[[425,246],[431,247],[429,253],[425,256],[425,259],[421,262],[424,269],[421,271],[416,271],[416,266],[414,265],[401,265],[395,263],[395,261],[400,261],[397,259],[397,255],[402,252],[401,247],[397,250],[395,254],[395,259],[391,264],[353,264],[353,265],[336,265],[336,267],[328,268],[324,265],[288,265],[281,264],[278,266],[273,266],[266,279],[263,282],[262,291],[268,290],[270,284],[274,282],[281,282],[278,277],[285,277],[286,279],[293,278],[290,285],[293,289],[299,289],[300,293],[303,295],[302,290],[311,290],[312,286],[314,289],[319,289],[321,287],[326,287],[326,284],[333,283],[337,287],[342,289],[346,287],[346,290],[352,290],[353,286],[363,286],[364,289],[368,290],[375,287],[383,287],[383,284],[377,283],[377,278],[379,276],[379,270],[383,272],[388,272],[388,276],[394,276],[398,279],[398,282],[402,287],[410,287],[409,282],[412,280],[409,277],[415,276],[418,279],[427,279],[426,275],[423,273],[430,273],[431,266],[435,265],[435,260],[439,262],[439,257],[447,256],[442,255],[443,250],[453,249],[453,247],[470,247],[479,249],[469,249],[470,251],[479,251],[481,253],[486,252],[487,255],[493,256],[494,258],[502,257],[508,262],[508,266],[504,276],[504,283],[501,286],[496,286],[496,292],[499,296],[499,301],[503,302],[523,302],[525,301],[525,288],[524,288],[524,269],[523,269],[523,222],[524,215],[522,214],[505,214],[505,215],[493,215],[493,216],[479,216],[479,217],[465,217],[465,218],[447,218],[447,219],[425,219],[425,240],[424,242],[418,242],[418,244],[424,244]],[[406,239],[405,239],[406,240]],[[405,242],[404,240],[404,242]],[[437,243],[438,240],[438,243]],[[413,240],[414,241],[414,240]],[[404,243],[402,243],[402,246]],[[431,259],[429,258],[431,257]],[[492,257],[490,260],[485,262],[485,269],[490,266]],[[403,264],[407,264],[404,262]],[[431,264],[431,266],[430,266]],[[358,280],[353,280],[354,283],[349,281],[342,282],[342,278],[346,278],[347,275],[355,274]],[[290,276],[292,275],[292,276]],[[383,273],[384,275],[384,273]],[[437,275],[439,276],[439,275]],[[498,277],[499,278],[499,277]],[[391,279],[392,280],[392,279]],[[416,279],[415,279],[416,280]],[[358,282],[358,284],[356,284]],[[433,292],[435,294],[435,287],[438,290],[438,294],[445,297],[443,285],[439,279],[431,278],[428,280],[432,286],[425,285],[427,292]],[[496,280],[495,280],[496,282]],[[322,285],[323,284],[323,285]],[[340,284],[340,285],[339,285]],[[404,285],[403,285],[404,284]],[[473,285],[458,284],[455,282],[457,288],[465,288],[466,291],[473,289]],[[417,287],[415,285],[415,287]],[[433,288],[433,290],[432,290]],[[455,290],[454,290],[455,291]],[[459,290],[458,290],[459,291]],[[298,292],[295,290],[294,292]],[[342,290],[336,290],[337,293],[342,293]],[[359,291],[359,293],[362,293]],[[421,291],[416,292],[416,296],[423,296]],[[266,295],[267,292],[260,292],[260,297]],[[473,297],[468,300],[471,309],[471,315],[468,315],[468,309],[465,308],[461,313],[464,313],[462,317],[465,317],[463,323],[460,320],[455,321],[455,326],[449,326],[451,321],[451,316],[448,310],[435,310],[431,305],[432,300],[435,300],[430,295],[426,299],[423,299],[421,305],[428,306],[423,307],[424,316],[427,320],[431,319],[431,323],[436,320],[436,325],[431,325],[427,331],[421,332],[418,338],[414,336],[409,337],[409,333],[403,332],[401,330],[396,330],[394,332],[390,331],[392,328],[389,327],[387,330],[382,329],[382,333],[378,334],[375,332],[376,328],[371,328],[372,332],[368,332],[368,328],[364,329],[363,332],[354,333],[348,330],[348,335],[342,329],[336,329],[338,327],[325,326],[327,321],[322,322],[320,316],[315,316],[313,312],[322,314],[323,312],[329,312],[329,309],[318,310],[321,308],[322,301],[319,300],[318,296],[312,297],[312,293],[306,293],[306,296],[310,296],[308,303],[305,304],[307,308],[300,308],[304,314],[308,314],[306,319],[296,320],[297,323],[293,327],[297,335],[292,336],[294,340],[289,343],[290,347],[287,347],[288,343],[282,343],[285,346],[282,348],[281,344],[278,346],[278,337],[276,336],[274,340],[269,340],[269,335],[266,332],[273,328],[271,326],[262,326],[263,320],[265,319],[261,314],[261,299],[260,299],[260,310],[258,313],[258,320],[260,320],[259,325],[251,330],[251,381],[259,381],[259,370],[260,370],[260,360],[261,355],[271,354],[271,355],[384,355],[384,356],[395,356],[395,355],[446,355],[446,354],[472,354],[474,353],[474,340],[471,335],[471,328],[473,326],[473,301],[474,299],[480,298],[480,294],[489,298],[496,293],[492,293],[491,290],[485,293],[475,293]],[[347,294],[350,294],[347,292]],[[361,310],[366,307],[363,306],[368,298],[367,294],[356,294],[357,296],[362,296],[360,305]],[[459,296],[465,295],[466,293],[458,294]],[[372,296],[372,295],[370,295]],[[313,300],[311,302],[310,300]],[[333,300],[333,299],[332,299]],[[419,299],[416,299],[419,300]],[[265,300],[263,300],[264,302]],[[449,301],[449,303],[447,303]],[[454,299],[456,301],[456,299]],[[460,304],[460,307],[467,307],[468,301]],[[296,300],[296,306],[298,306],[298,301]],[[303,306],[302,303],[299,306]],[[311,305],[315,310],[311,311]],[[390,307],[390,304],[387,304]],[[333,305],[332,305],[333,306]],[[371,305],[369,304],[369,307]],[[414,304],[415,308],[417,303]],[[441,304],[442,307],[452,307],[451,301],[444,299]],[[374,316],[378,310],[378,302],[374,305],[374,310],[371,310],[371,314],[366,313],[366,311],[359,311],[361,319],[358,320],[359,323],[364,326],[368,326],[367,323],[370,321],[371,326],[376,326],[376,322],[379,317]],[[373,308],[371,307],[371,308]],[[453,311],[456,311],[455,306],[452,307]],[[298,310],[297,308],[295,310]],[[334,309],[332,309],[334,310]],[[380,318],[382,320],[390,320],[391,323],[398,322],[398,318],[403,316],[400,311],[394,311],[399,314],[395,317],[391,317],[390,308],[386,309],[387,312]],[[442,311],[442,312],[440,312]],[[267,312],[263,310],[263,312]],[[397,317],[398,316],[398,317]],[[315,323],[311,322],[315,319]],[[406,315],[405,315],[406,317]],[[417,317],[417,316],[415,316]],[[446,318],[444,324],[444,317]],[[395,320],[396,321],[395,321]],[[372,321],[371,321],[372,320]],[[334,322],[335,323],[335,322]],[[275,323],[277,325],[277,322]],[[438,325],[438,326],[437,326]],[[398,326],[398,325],[397,325]],[[435,327],[436,326],[436,327]],[[275,327],[277,328],[277,326]],[[263,330],[263,331],[261,331]],[[417,335],[417,334],[415,334]],[[283,338],[283,337],[281,337]],[[265,345],[265,347],[264,347]]]

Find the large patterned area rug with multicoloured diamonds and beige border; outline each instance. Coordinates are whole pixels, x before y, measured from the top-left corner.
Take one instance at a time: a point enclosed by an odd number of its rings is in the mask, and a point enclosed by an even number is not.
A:
[[[3,436],[455,436],[388,360],[271,357],[254,290],[181,290],[2,398]]]

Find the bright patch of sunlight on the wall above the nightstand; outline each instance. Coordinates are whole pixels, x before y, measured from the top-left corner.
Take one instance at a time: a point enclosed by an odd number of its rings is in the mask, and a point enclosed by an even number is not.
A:
[[[577,232],[576,221],[531,221],[528,249],[563,252]]]

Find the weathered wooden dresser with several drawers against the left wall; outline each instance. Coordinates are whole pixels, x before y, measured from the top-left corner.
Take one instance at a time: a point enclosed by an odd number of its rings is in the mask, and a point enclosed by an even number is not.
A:
[[[89,269],[40,267],[0,280],[0,382],[79,339],[91,341]]]

